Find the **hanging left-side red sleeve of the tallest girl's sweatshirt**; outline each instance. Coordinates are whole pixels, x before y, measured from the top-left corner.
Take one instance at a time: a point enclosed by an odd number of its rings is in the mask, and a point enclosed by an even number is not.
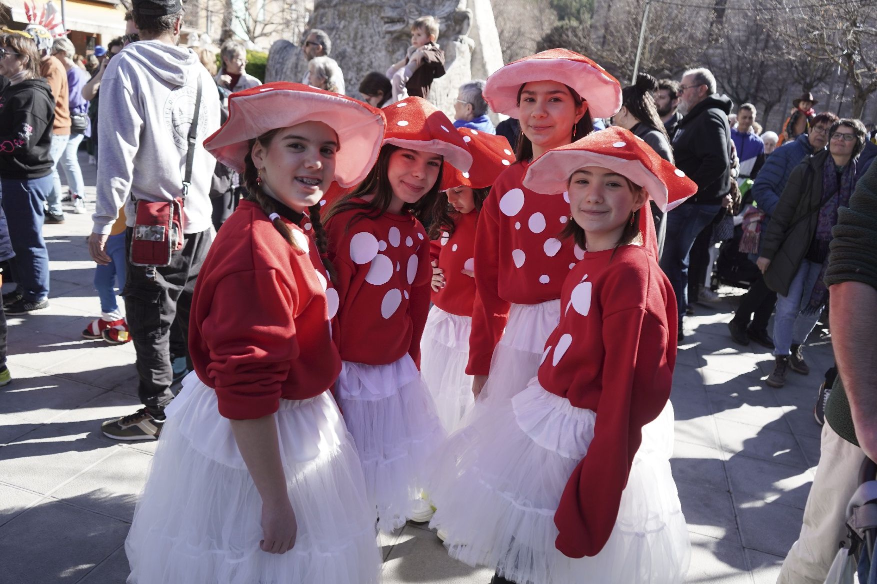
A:
[[[475,300],[472,332],[469,334],[469,363],[466,373],[486,375],[490,360],[509,321],[510,303],[499,296],[499,206],[496,188],[484,200],[475,231]]]

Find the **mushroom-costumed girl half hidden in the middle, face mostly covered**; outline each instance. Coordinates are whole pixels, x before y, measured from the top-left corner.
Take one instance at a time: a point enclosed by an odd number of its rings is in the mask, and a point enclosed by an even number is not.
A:
[[[447,162],[430,226],[432,308],[420,343],[421,371],[446,431],[460,425],[473,402],[472,376],[466,374],[469,332],[475,299],[475,227],[496,177],[514,162],[503,136],[458,128],[472,153],[472,169],[461,172]]]

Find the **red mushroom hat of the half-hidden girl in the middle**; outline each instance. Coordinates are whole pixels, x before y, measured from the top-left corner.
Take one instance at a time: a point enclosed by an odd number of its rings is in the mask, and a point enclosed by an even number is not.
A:
[[[457,128],[456,131],[469,146],[469,152],[472,153],[472,167],[467,172],[462,172],[445,163],[440,190],[456,187],[484,189],[493,186],[496,177],[515,163],[515,153],[511,151],[509,140],[504,136],[496,136],[472,128]]]

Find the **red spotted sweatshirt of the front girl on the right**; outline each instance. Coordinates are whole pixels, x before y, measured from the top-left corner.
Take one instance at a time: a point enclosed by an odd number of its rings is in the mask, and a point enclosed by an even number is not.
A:
[[[567,276],[560,324],[545,343],[539,383],[596,412],[594,438],[554,515],[555,545],[573,558],[609,540],[642,427],[670,397],[676,362],[676,300],[641,246],[586,253]]]

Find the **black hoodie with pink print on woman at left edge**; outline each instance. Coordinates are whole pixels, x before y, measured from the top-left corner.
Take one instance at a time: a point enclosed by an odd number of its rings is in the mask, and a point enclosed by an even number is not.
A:
[[[0,177],[41,178],[52,172],[54,97],[45,79],[10,85],[0,94]]]

